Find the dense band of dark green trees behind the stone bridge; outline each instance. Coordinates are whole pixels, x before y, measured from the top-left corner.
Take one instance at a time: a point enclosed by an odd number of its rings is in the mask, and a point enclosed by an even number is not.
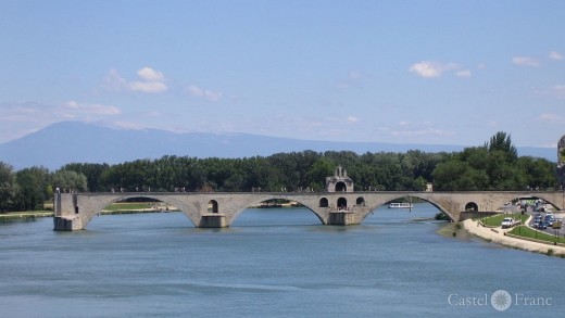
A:
[[[511,137],[498,132],[481,147],[461,152],[357,154],[302,151],[243,158],[165,155],[116,165],[71,163],[55,171],[14,171],[0,162],[0,211],[42,208],[53,192],[324,191],[341,165],[355,191],[554,189],[554,163],[518,156]]]

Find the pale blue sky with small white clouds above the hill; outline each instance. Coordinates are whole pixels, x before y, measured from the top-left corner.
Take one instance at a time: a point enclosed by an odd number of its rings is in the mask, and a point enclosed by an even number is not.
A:
[[[0,142],[83,120],[310,140],[565,135],[565,1],[0,1]]]

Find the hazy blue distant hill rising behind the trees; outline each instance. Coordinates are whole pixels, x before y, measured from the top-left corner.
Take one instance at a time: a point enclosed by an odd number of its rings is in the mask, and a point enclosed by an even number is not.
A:
[[[398,144],[386,142],[314,141],[248,133],[175,133],[158,129],[128,130],[96,124],[65,122],[23,138],[0,143],[0,161],[15,169],[45,166],[51,170],[67,163],[117,164],[163,155],[196,157],[267,156],[279,152],[313,150],[365,152],[461,151],[464,145]],[[551,148],[518,148],[519,155],[555,162]]]

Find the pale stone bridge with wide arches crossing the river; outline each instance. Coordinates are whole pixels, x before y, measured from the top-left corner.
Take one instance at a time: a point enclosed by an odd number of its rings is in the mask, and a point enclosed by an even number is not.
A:
[[[493,212],[518,198],[536,198],[564,209],[562,191],[465,192],[133,192],[55,193],[54,230],[83,230],[102,208],[125,199],[155,199],[180,209],[196,227],[229,227],[247,207],[272,199],[296,201],[314,213],[323,225],[359,225],[387,202],[418,198],[444,212],[452,220],[463,212]]]

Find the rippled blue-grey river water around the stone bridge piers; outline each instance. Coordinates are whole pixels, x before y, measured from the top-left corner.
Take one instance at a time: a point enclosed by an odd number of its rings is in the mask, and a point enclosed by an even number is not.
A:
[[[436,213],[380,207],[350,227],[305,208],[250,208],[228,229],[180,213],[100,216],[78,232],[1,224],[0,316],[562,316],[565,259],[414,220]]]

